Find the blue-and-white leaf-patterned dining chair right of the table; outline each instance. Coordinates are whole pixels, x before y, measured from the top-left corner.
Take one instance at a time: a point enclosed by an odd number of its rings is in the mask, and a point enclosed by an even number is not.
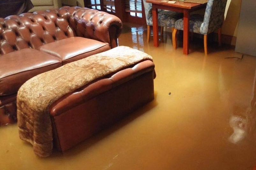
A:
[[[224,12],[227,0],[208,0],[205,14],[194,14],[190,16],[189,31],[204,35],[204,53],[207,55],[207,35],[215,30],[218,31],[218,44],[221,46],[221,27],[224,20]],[[177,48],[177,31],[183,30],[183,18],[174,24],[172,32],[172,45]],[[192,33],[192,34],[193,34]]]

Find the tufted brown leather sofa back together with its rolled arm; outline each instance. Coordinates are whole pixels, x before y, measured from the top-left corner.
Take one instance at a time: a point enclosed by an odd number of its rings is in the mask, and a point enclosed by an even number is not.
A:
[[[109,25],[109,20],[114,22]],[[106,36],[110,27],[114,35]],[[111,44],[111,39],[120,35],[121,28],[119,18],[80,7],[12,15],[0,18],[0,55],[24,48],[37,49],[43,44],[74,36]]]

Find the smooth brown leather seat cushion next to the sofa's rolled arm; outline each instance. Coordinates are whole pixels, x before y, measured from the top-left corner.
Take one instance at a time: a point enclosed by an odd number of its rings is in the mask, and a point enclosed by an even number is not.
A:
[[[83,37],[69,37],[39,47],[40,51],[62,60],[62,65],[110,50],[108,43]]]

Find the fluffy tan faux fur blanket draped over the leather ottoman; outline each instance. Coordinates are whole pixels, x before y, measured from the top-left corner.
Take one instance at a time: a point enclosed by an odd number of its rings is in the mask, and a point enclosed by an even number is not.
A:
[[[119,46],[31,78],[20,87],[17,95],[20,139],[30,142],[40,157],[49,156],[53,148],[50,105],[97,78],[144,60],[152,60],[152,57],[142,51]]]

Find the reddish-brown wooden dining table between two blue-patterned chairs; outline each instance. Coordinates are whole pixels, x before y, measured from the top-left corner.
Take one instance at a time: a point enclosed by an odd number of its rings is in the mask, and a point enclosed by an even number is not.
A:
[[[158,41],[158,9],[172,10],[182,12],[183,24],[183,54],[189,54],[189,14],[192,11],[206,7],[207,3],[189,3],[176,1],[175,3],[161,2],[161,0],[146,0],[147,3],[152,3],[152,20],[153,20],[153,40],[154,46],[159,45]]]

